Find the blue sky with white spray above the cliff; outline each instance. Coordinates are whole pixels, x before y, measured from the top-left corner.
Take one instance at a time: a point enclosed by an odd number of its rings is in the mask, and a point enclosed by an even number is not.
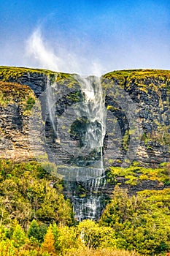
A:
[[[170,69],[170,1],[0,0],[0,65]]]

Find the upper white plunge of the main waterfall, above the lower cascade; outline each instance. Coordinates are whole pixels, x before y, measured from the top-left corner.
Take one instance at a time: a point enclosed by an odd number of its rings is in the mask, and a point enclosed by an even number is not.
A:
[[[84,94],[84,101],[80,109],[80,116],[88,118],[89,124],[86,127],[86,132],[83,135],[84,145],[83,151],[96,151],[100,153],[101,164],[103,169],[103,146],[104,137],[106,134],[106,108],[104,104],[103,91],[101,88],[100,78],[96,76],[89,76],[82,78],[75,76],[76,80],[80,83],[82,92]]]

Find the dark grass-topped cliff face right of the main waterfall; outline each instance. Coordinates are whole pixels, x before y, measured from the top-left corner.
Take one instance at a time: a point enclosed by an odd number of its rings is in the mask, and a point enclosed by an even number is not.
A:
[[[118,120],[123,135],[123,141],[119,144],[121,153],[113,165],[119,160],[123,161],[123,155],[127,154],[133,136],[133,124],[129,125],[131,118],[136,120],[134,125],[137,125],[137,128],[134,132],[140,130],[139,138],[136,138],[138,149],[133,150],[135,143],[131,145],[135,159],[151,167],[156,167],[160,162],[169,162],[170,72],[150,69],[111,72],[103,76],[102,83],[106,90],[107,110]],[[115,88],[123,89],[123,97],[119,95],[122,91]],[[123,98],[129,103],[123,105]],[[134,117],[129,117],[129,112]],[[112,121],[114,122],[114,118]],[[109,136],[117,143],[114,134]],[[131,153],[129,155],[129,158],[133,159]],[[110,154],[108,159],[112,159]]]

